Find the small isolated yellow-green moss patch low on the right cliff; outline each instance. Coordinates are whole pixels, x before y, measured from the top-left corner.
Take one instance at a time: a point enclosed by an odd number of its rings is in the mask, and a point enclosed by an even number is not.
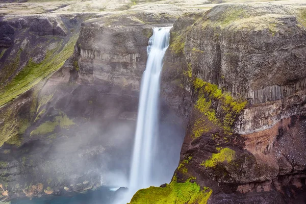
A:
[[[218,163],[227,162],[230,163],[234,158],[236,152],[228,147],[226,148],[216,148],[219,153],[213,154],[212,157],[201,163],[201,166],[205,167],[215,167]]]

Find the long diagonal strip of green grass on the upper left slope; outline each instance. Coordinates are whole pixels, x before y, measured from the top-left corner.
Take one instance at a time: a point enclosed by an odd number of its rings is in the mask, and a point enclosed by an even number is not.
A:
[[[77,35],[73,36],[59,53],[57,53],[60,50],[59,47],[49,50],[46,53],[45,59],[38,64],[30,59],[28,64],[15,76],[15,78],[12,79],[11,82],[9,82],[5,87],[0,89],[0,94],[2,95],[0,99],[0,106],[17,97],[19,94],[29,90],[42,79],[48,77],[51,73],[58,70],[68,59],[68,57],[73,54],[73,46],[75,42],[77,42],[77,39]],[[13,63],[16,64],[16,67],[19,66],[18,58],[20,58],[20,54]],[[10,67],[11,66],[13,65],[10,65]],[[12,74],[10,73],[9,75]]]

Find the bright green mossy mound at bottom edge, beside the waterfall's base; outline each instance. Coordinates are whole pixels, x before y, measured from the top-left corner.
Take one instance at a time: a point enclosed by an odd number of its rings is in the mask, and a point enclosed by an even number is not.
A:
[[[190,181],[177,183],[175,180],[164,188],[149,187],[137,191],[130,204],[206,204],[212,192],[210,188],[201,189],[196,183]]]

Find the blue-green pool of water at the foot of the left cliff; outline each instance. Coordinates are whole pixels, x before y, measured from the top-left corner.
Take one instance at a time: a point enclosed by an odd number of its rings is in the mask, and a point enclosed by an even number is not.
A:
[[[115,192],[101,187],[95,191],[71,196],[47,196],[43,198],[13,199],[11,204],[111,204],[115,199]]]

